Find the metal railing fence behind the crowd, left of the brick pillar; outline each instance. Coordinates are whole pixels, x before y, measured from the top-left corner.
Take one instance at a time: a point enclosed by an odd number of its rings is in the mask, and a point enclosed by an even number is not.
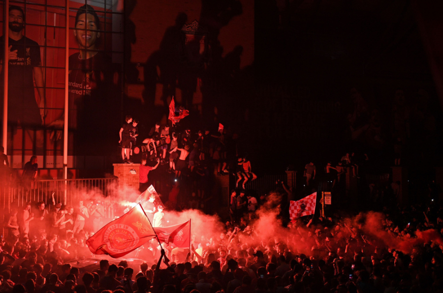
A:
[[[38,180],[27,184],[6,182],[0,187],[0,210],[9,211],[12,205],[22,206],[26,202],[43,201],[48,205],[53,197],[56,203],[76,206],[80,199],[115,197],[117,189],[118,178]]]

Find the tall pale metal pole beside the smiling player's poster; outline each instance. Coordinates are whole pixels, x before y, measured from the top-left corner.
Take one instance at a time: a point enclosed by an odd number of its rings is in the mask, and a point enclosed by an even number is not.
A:
[[[66,50],[64,63],[64,124],[63,124],[63,179],[64,179],[64,199],[66,204],[67,193],[67,137],[68,137],[68,108],[69,108],[69,0],[66,0]]]

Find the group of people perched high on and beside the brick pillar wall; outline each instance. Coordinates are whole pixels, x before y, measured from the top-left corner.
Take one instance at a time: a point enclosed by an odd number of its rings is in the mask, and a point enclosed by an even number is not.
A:
[[[139,139],[137,124],[138,120],[126,117],[120,129],[120,145],[123,163],[141,163],[140,192],[150,185],[155,187],[155,181],[149,176],[155,169],[160,170],[157,173],[170,173],[176,189],[186,189],[187,199],[192,200],[195,194],[200,202],[208,198],[205,194],[209,194],[214,185],[214,174],[235,176],[239,189],[247,188],[247,184],[257,178],[246,152],[239,149],[238,135],[228,133],[220,125],[213,133],[209,128],[192,131],[180,123],[169,126],[157,122],[146,138]],[[169,202],[176,206],[174,193]]]

